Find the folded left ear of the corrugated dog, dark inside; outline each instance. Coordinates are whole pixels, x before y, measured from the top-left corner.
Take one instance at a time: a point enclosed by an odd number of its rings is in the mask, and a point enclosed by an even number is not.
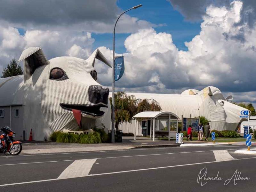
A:
[[[49,64],[49,61],[44,56],[40,47],[29,47],[28,49],[25,49],[21,53],[18,62],[22,60],[24,60],[24,82],[32,76],[36,68]]]

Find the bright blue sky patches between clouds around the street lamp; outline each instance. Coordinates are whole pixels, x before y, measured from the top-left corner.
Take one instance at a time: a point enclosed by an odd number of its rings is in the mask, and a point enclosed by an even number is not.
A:
[[[147,0],[129,0],[117,1],[118,7],[123,11],[135,5],[142,4],[143,6],[127,12],[132,17],[137,17],[140,20],[147,20],[156,25],[164,24],[164,26],[156,27],[157,33],[166,32],[172,34],[172,40],[179,50],[187,51],[184,42],[191,41],[191,39],[200,32],[200,21],[189,22],[185,21],[180,12],[173,9],[170,2],[166,0],[147,1]],[[117,24],[118,25],[118,24]],[[116,34],[116,52],[125,52],[124,41],[130,34]],[[93,48],[99,46],[113,47],[113,34],[92,34],[95,39]]]

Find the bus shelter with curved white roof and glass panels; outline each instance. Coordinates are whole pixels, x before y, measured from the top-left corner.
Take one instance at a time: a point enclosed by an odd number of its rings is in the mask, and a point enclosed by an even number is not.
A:
[[[178,120],[179,117],[175,115],[172,112],[168,111],[144,111],[136,114],[133,116],[135,119],[135,134],[134,134],[134,140],[136,140],[136,132],[137,127],[139,129],[139,121],[141,119],[150,119],[150,139],[153,138],[153,141],[155,140],[155,135],[157,134],[165,134],[168,135],[168,140],[170,140],[171,132],[178,132]],[[168,120],[167,130],[159,130],[159,121],[162,119]],[[153,121],[153,124],[152,124]],[[157,126],[156,126],[157,121]],[[175,122],[174,129],[171,128],[171,121],[172,123]],[[153,125],[153,126],[152,126]],[[173,124],[172,124],[173,127]],[[174,131],[175,130],[175,131]]]

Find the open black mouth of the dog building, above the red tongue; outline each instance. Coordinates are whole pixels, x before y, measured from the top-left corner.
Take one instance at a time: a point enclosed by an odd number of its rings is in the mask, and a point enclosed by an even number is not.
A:
[[[85,113],[86,115],[91,115],[94,117],[97,116],[103,116],[104,115],[104,111],[100,111],[101,107],[108,107],[107,105],[76,105],[76,104],[63,104],[60,103],[60,107],[62,107],[63,109],[67,109],[69,111],[73,111],[72,109],[78,110],[81,113]]]

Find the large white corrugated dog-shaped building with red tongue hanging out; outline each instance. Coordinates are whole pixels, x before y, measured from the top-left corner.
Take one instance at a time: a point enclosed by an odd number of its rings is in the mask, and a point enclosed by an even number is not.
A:
[[[96,49],[87,59],[57,57],[47,60],[39,47],[20,56],[24,76],[0,79],[0,125],[9,125],[18,139],[30,130],[33,140],[49,140],[52,132],[106,128],[111,110],[109,90],[97,83],[95,59],[112,67]],[[103,116],[105,114],[105,116]]]

